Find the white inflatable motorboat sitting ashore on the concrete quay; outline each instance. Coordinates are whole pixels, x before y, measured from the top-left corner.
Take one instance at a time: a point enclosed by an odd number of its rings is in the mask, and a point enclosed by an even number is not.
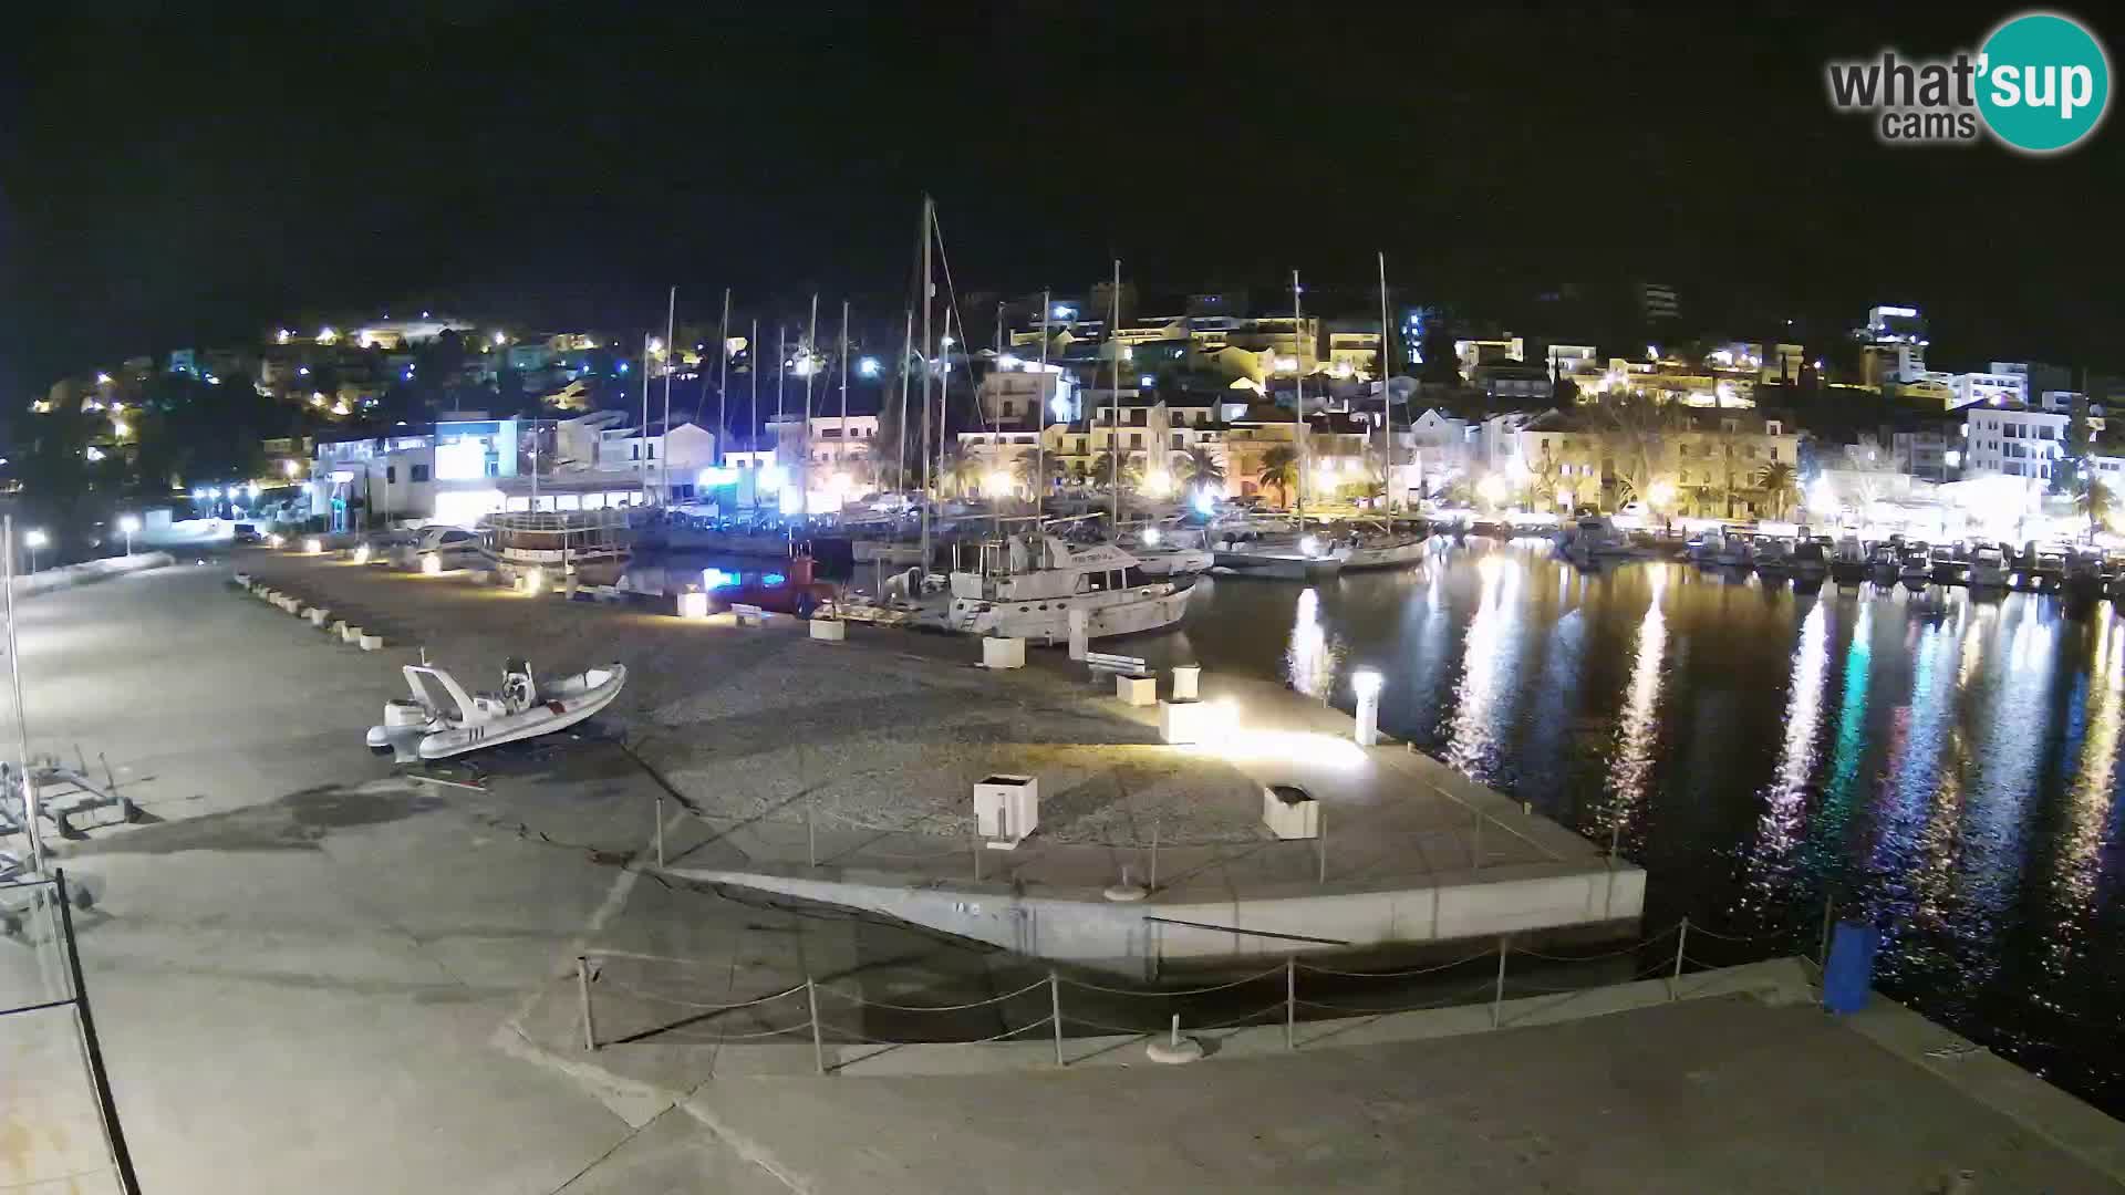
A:
[[[412,700],[385,702],[385,721],[370,727],[368,742],[378,755],[414,763],[572,727],[620,695],[627,666],[591,668],[540,689],[531,666],[510,659],[502,666],[502,693],[465,693],[448,672],[408,663],[406,685]]]

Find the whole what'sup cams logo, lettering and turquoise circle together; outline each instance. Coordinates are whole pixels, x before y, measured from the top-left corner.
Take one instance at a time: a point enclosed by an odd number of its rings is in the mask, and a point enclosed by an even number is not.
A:
[[[1830,106],[1866,113],[1883,145],[1957,145],[1991,134],[2019,153],[2074,149],[2110,108],[2110,55],[2072,17],[2008,17],[1953,57],[1842,60],[1825,68]]]

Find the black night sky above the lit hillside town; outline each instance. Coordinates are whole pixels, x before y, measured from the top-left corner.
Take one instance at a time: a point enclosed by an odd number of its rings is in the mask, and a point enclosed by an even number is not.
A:
[[[924,189],[963,289],[1084,287],[1111,255],[1362,283],[1386,249],[1413,296],[1896,298],[1936,353],[2125,366],[2116,119],[2029,159],[1828,111],[1828,55],[1970,47],[2010,9],[712,9],[19,30],[0,385],[421,293],[525,285],[608,323],[667,283],[899,296]]]

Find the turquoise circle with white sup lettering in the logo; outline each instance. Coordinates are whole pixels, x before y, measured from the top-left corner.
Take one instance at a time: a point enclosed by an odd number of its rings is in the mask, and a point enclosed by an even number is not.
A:
[[[2080,21],[2023,13],[1993,30],[1978,53],[1978,113],[2008,147],[2057,153],[2104,123],[2110,55]]]

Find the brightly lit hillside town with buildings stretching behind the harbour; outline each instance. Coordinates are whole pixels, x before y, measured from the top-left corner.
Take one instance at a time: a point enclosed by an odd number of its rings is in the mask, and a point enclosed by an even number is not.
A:
[[[910,398],[924,370],[912,321],[895,342],[876,321],[822,325],[816,300],[774,332],[438,310],[272,327],[55,381],[15,419],[4,478],[57,527],[119,506],[270,510],[325,532],[472,525],[533,502],[816,517],[924,485],[1022,508],[1118,483],[1143,502],[1628,510],[2023,542],[2104,529],[2125,472],[2125,436],[2104,421],[2125,376],[1936,370],[1912,306],[1876,304],[1821,344],[1687,338],[1674,289],[1634,283],[1645,344],[1402,306],[1383,347],[1377,315],[1262,300],[1303,293],[1137,313],[1133,283],[1041,291],[997,302],[988,344],[948,315],[929,366],[941,434]]]

